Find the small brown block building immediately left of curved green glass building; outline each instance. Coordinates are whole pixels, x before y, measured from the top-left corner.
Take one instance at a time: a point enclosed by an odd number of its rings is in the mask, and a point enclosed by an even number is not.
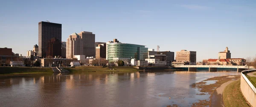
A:
[[[95,58],[106,58],[106,44],[98,44],[98,47],[95,49]]]

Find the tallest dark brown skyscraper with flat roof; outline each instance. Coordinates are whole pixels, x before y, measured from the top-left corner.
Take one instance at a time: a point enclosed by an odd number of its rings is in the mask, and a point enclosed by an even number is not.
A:
[[[61,56],[61,24],[38,23],[38,53],[40,58]]]

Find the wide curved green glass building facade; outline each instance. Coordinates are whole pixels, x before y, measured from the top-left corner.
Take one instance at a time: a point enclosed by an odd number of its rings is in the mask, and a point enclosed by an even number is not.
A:
[[[145,60],[148,55],[148,48],[137,44],[113,43],[108,46],[108,60],[113,58],[135,58],[136,60]]]

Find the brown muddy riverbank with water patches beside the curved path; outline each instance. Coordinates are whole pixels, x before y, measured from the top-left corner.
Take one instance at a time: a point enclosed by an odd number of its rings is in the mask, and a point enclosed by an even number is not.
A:
[[[221,76],[221,77],[212,77],[202,82],[195,83],[194,85],[192,85],[192,87],[197,88],[200,92],[202,92],[199,95],[202,95],[202,96],[207,95],[209,96],[209,99],[198,100],[198,102],[195,102],[192,104],[192,107],[198,107],[198,106],[209,107],[212,101],[212,94],[216,88],[220,87],[225,82],[228,82],[231,80],[238,80],[238,79],[240,79],[240,75]]]

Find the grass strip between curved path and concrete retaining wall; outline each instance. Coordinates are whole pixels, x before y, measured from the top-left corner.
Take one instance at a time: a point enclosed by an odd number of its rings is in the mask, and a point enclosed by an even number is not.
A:
[[[223,92],[225,107],[250,107],[240,91],[240,80],[227,85]]]

